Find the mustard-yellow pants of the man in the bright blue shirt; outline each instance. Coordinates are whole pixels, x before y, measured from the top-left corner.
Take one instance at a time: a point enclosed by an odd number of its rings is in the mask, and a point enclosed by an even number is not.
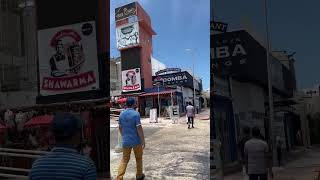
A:
[[[136,157],[137,164],[137,173],[136,177],[139,178],[142,176],[142,154],[143,148],[142,145],[138,145],[130,148],[123,148],[123,156],[118,170],[117,180],[122,180],[124,174],[126,173],[127,165],[130,160],[131,150],[133,149],[134,156]]]

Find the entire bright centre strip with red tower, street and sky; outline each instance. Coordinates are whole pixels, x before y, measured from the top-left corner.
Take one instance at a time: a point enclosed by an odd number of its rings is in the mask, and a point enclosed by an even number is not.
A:
[[[210,178],[209,1],[183,2],[111,2],[113,179]]]

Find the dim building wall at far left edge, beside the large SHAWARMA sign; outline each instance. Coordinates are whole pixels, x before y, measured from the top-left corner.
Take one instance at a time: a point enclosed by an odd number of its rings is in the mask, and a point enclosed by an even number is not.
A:
[[[0,59],[0,109],[35,105],[37,45],[33,1],[0,0]]]

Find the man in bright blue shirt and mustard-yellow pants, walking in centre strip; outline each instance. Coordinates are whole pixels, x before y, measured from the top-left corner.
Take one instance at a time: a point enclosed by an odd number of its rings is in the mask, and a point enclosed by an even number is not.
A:
[[[123,156],[120,162],[117,180],[122,180],[130,160],[130,154],[133,149],[136,158],[136,179],[143,180],[145,175],[142,170],[142,154],[145,148],[145,139],[140,121],[139,112],[134,110],[135,100],[127,99],[127,108],[119,117],[119,131],[122,137]]]

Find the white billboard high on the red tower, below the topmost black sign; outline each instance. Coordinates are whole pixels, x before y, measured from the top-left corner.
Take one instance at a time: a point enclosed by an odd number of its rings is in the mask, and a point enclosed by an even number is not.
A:
[[[139,23],[134,22],[117,27],[116,41],[119,50],[139,45]]]

